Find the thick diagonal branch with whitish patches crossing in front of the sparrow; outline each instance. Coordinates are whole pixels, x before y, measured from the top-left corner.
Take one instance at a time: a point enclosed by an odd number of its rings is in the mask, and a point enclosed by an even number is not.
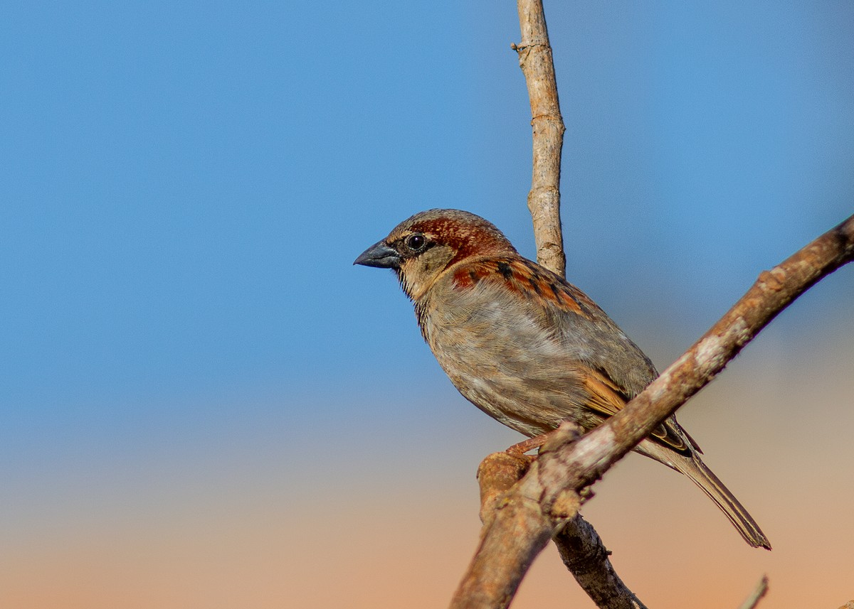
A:
[[[626,407],[578,437],[565,423],[543,444],[528,473],[492,497],[482,538],[453,609],[506,607],[549,539],[576,517],[583,490],[632,450],[726,364],[781,310],[854,259],[854,216],[805,246],[750,290],[701,339]]]

